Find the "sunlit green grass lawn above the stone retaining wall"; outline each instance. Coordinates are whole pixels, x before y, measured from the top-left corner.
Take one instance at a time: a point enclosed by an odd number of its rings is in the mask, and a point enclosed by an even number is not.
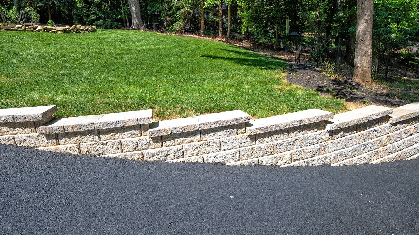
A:
[[[344,108],[285,82],[283,61],[220,42],[127,30],[0,31],[0,45],[0,108],[57,105],[59,117],[153,108],[161,119]]]

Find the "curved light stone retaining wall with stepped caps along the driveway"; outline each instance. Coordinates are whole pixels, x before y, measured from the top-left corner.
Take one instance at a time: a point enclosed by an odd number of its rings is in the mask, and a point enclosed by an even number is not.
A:
[[[144,161],[319,166],[419,158],[419,102],[251,120],[241,110],[153,122],[152,110],[52,120],[56,106],[0,109],[0,143]]]

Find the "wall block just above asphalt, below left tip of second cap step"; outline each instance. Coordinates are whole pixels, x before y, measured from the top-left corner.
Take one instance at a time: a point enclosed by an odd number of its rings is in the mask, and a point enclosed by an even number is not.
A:
[[[57,134],[41,135],[39,133],[15,135],[18,146],[45,147],[58,145]]]

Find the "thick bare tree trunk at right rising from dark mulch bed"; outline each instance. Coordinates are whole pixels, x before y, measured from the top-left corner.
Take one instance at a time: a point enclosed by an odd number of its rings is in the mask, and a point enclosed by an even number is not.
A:
[[[357,38],[352,80],[371,85],[373,0],[357,0]]]

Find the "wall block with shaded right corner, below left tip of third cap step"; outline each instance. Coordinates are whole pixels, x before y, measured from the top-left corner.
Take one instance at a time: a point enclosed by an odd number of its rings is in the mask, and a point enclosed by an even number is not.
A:
[[[161,137],[142,136],[136,138],[128,138],[121,140],[122,149],[124,152],[141,151],[151,148],[161,148]]]

